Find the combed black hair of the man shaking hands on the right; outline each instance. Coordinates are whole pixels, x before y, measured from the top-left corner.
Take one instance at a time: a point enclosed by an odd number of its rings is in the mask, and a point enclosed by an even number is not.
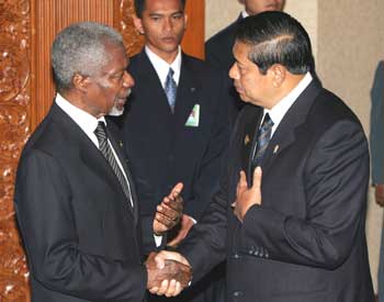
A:
[[[287,13],[268,11],[244,19],[236,41],[251,46],[248,58],[263,75],[273,64],[281,64],[294,75],[304,75],[312,69],[309,36]]]

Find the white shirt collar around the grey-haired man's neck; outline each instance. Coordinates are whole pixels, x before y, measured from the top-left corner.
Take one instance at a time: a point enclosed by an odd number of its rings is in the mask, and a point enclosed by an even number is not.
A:
[[[69,115],[69,118],[71,118],[75,121],[75,123],[79,125],[79,127],[88,136],[94,135],[93,132],[97,128],[99,121],[102,121],[105,123],[104,116],[100,118],[99,120],[95,119],[93,115],[89,114],[88,112],[71,104],[58,92],[56,94],[55,102],[65,113]]]

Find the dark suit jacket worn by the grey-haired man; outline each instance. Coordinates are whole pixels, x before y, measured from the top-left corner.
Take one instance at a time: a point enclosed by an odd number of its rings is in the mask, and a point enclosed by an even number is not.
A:
[[[147,273],[132,191],[135,211],[100,150],[53,104],[25,145],[15,184],[32,301],[143,301]]]

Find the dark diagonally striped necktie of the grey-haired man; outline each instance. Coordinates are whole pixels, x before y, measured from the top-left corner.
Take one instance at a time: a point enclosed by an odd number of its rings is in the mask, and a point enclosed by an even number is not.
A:
[[[129,186],[127,183],[127,180],[125,179],[123,171],[118,167],[117,160],[112,152],[112,148],[108,142],[106,131],[105,131],[105,124],[104,122],[99,122],[97,128],[94,130],[94,134],[99,141],[99,149],[102,153],[102,155],[105,157],[108,163],[110,164],[112,170],[114,171],[115,176],[118,179],[120,184],[122,186],[122,189],[124,191],[124,194],[129,200],[129,204],[132,203],[132,194],[129,190]]]

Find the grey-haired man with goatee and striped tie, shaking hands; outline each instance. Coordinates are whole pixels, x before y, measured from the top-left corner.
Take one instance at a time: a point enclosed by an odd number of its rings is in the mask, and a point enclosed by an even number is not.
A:
[[[153,258],[143,264],[131,171],[105,131],[104,115],[134,85],[122,36],[77,23],[58,34],[52,58],[58,93],[25,145],[15,182],[32,301],[137,302],[146,288],[168,295],[168,286],[180,289],[168,282],[179,265],[157,271]]]

